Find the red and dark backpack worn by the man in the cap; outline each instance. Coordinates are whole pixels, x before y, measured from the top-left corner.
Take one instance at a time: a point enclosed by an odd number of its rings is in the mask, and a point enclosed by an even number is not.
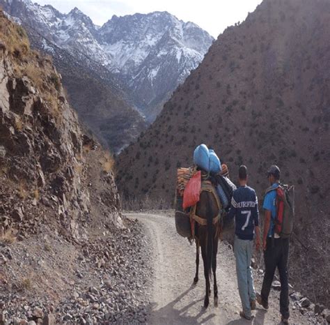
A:
[[[267,188],[266,194],[272,190],[276,190],[274,232],[283,239],[290,238],[294,221],[294,186],[279,184],[277,188]]]

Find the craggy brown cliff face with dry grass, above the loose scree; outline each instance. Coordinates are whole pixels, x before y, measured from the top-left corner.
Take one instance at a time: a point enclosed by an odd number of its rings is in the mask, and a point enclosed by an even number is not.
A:
[[[102,184],[104,220],[120,226],[110,156],[81,130],[51,59],[32,52],[24,29],[3,13],[0,27],[1,234],[24,239],[48,224],[83,239],[100,205],[88,188],[89,163]]]

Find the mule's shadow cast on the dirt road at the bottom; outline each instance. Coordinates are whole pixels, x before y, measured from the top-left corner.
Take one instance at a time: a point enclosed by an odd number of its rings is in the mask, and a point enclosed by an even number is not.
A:
[[[215,314],[207,314],[207,309],[202,307],[201,302],[204,301],[204,298],[192,301],[188,305],[185,305],[183,308],[175,308],[175,305],[181,301],[184,296],[186,296],[191,289],[194,289],[194,285],[191,285],[189,289],[180,294],[175,298],[171,303],[168,303],[164,307],[157,310],[157,304],[152,304],[150,306],[150,324],[203,324],[210,321]],[[196,303],[201,304],[201,311],[197,315],[191,316],[188,314],[189,309],[194,307]],[[200,317],[205,317],[200,319]]]

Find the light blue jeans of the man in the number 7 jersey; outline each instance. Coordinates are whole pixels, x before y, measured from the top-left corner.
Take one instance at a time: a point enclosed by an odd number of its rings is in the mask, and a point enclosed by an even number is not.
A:
[[[249,317],[251,317],[251,300],[256,300],[256,291],[253,286],[251,270],[252,252],[253,241],[239,239],[235,236],[234,253],[238,291],[242,301],[243,312]]]

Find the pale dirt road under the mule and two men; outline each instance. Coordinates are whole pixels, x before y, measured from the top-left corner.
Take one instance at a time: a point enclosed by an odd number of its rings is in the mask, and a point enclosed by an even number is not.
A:
[[[200,263],[199,281],[192,285],[195,274],[195,245],[175,231],[174,218],[155,214],[132,213],[150,236],[154,254],[153,287],[151,290],[150,324],[279,324],[278,292],[273,292],[269,310],[257,308],[256,318],[248,322],[239,317],[241,303],[237,290],[235,257],[233,251],[219,242],[217,282],[219,307],[203,308],[205,280],[203,262]],[[256,273],[255,273],[256,274]],[[256,274],[255,285],[260,290],[261,278]],[[292,306],[291,306],[292,307]],[[311,321],[297,310],[291,310],[290,324],[310,324]]]

